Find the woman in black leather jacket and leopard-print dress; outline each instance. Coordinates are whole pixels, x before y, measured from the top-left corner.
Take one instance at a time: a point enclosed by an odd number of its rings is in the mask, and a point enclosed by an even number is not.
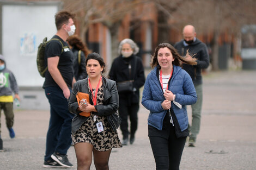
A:
[[[72,119],[72,142],[77,169],[90,168],[92,153],[96,169],[108,169],[112,148],[122,147],[117,131],[107,121],[107,116],[118,110],[119,97],[115,81],[102,77],[104,67],[99,54],[89,54],[86,59],[88,78],[77,81],[70,95],[69,111],[75,114]],[[89,101],[78,105],[77,92],[88,93]],[[90,112],[90,116],[81,116],[81,112]]]

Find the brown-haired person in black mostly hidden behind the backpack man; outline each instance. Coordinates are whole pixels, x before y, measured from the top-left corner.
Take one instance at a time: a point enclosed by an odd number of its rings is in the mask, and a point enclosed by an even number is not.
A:
[[[71,35],[66,39],[74,54],[73,69],[76,81],[87,78],[86,57],[89,50],[78,35]]]

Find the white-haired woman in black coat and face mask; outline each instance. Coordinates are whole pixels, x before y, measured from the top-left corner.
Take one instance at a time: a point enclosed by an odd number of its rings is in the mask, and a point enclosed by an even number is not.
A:
[[[130,144],[135,141],[135,132],[138,127],[139,88],[145,83],[142,60],[136,56],[138,52],[139,48],[133,40],[122,40],[118,47],[119,56],[112,62],[109,72],[109,79],[117,82],[123,145],[127,145],[129,134]],[[130,131],[128,116],[130,117]]]

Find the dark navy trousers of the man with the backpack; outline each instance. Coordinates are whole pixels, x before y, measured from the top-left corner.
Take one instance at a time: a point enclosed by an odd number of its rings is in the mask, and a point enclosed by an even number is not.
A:
[[[59,87],[46,87],[45,95],[50,103],[50,121],[46,136],[45,161],[54,152],[64,154],[71,144],[71,121],[74,115],[68,110],[68,100]]]

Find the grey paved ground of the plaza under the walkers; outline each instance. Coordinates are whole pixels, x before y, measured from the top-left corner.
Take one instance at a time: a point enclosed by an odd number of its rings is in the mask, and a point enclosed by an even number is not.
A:
[[[186,145],[180,169],[255,169],[256,71],[208,73],[204,75],[203,88],[202,127],[197,147]],[[191,118],[190,107],[188,112]],[[136,141],[133,145],[113,149],[110,169],[155,169],[147,136],[147,117],[148,111],[141,106]],[[2,114],[4,152],[0,152],[0,169],[45,169],[42,163],[48,119],[47,110],[16,110],[16,138],[10,139]],[[210,150],[227,153],[205,153]],[[75,165],[71,169],[76,169],[74,147],[70,147],[68,155]],[[95,169],[94,165],[91,169]]]

